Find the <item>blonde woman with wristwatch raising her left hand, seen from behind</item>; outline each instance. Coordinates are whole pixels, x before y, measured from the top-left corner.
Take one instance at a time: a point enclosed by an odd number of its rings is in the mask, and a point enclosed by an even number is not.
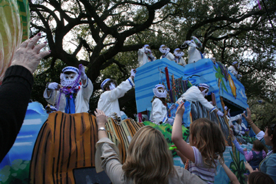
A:
[[[122,165],[117,147],[106,135],[106,115],[101,110],[95,114],[99,128],[96,170],[105,170],[112,183],[204,183],[198,176],[173,165],[163,134],[150,126],[141,127],[133,136]]]

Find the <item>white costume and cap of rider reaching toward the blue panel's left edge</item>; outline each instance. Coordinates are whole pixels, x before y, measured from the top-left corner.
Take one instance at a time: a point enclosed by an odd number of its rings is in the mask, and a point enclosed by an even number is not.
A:
[[[106,79],[101,83],[101,89],[103,89],[103,85],[105,85],[109,80],[110,79]],[[97,108],[102,110],[107,116],[108,114],[115,112],[117,113],[117,116],[121,117],[123,114],[121,114],[118,99],[124,96],[131,88],[135,88],[135,83],[130,77],[126,79],[126,81],[120,83],[116,88],[103,92],[99,98]]]

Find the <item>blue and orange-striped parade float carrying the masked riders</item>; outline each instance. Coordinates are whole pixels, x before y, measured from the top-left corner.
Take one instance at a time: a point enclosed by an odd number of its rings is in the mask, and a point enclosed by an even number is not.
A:
[[[135,96],[138,116],[150,114],[152,88],[157,83],[163,83],[168,89],[170,103],[175,103],[179,95],[191,85],[207,83],[210,85],[207,99],[213,101],[217,108],[222,110],[223,105],[228,105],[233,115],[243,112],[248,107],[244,86],[227,70],[221,70],[221,67],[224,68],[224,65],[213,63],[210,59],[201,59],[185,67],[161,59],[137,68]],[[207,117],[218,123],[228,145],[224,152],[226,165],[237,174],[240,183],[244,183],[245,159],[231,145],[226,119],[207,112],[200,103],[190,103],[186,107],[183,138],[188,139],[189,123],[193,123],[195,119]],[[118,146],[122,163],[126,160],[126,150],[132,136],[144,125],[157,128],[164,134],[168,146],[173,144],[172,126],[169,124],[155,125],[150,121],[139,123],[132,119],[118,122],[108,119],[108,137]],[[92,114],[47,114],[40,103],[29,103],[17,140],[0,164],[0,183],[110,183],[104,172],[95,172],[95,143],[97,123]],[[242,147],[252,149],[250,143],[243,144]],[[172,155],[175,165],[184,167],[177,154],[172,152]],[[228,181],[228,176],[219,165],[215,183]]]

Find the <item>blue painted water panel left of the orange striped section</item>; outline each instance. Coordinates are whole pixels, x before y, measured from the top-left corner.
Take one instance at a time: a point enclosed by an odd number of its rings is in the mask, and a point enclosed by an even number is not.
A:
[[[48,114],[41,103],[29,103],[25,119],[14,145],[0,163],[0,183],[20,178],[28,183],[30,160],[34,143]]]

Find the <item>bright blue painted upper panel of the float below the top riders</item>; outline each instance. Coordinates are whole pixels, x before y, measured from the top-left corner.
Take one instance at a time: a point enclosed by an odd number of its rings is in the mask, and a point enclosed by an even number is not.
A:
[[[193,85],[206,83],[210,85],[208,94],[211,92],[215,93],[217,107],[220,110],[223,110],[220,96],[242,110],[248,108],[244,85],[230,72],[230,76],[225,74],[223,78],[220,77],[219,79],[219,74],[217,73],[221,72],[218,71],[219,65],[217,63],[213,63],[210,59],[201,59],[196,63],[190,63],[183,67],[164,58],[146,63],[137,68],[135,76],[135,98],[138,113],[146,111],[147,108],[151,108],[150,101],[154,95],[152,89],[155,88],[155,85],[164,83],[168,88],[165,74],[166,67],[168,67],[170,86],[172,85],[172,74],[175,79],[182,77],[183,79],[188,79]],[[232,79],[234,86],[232,85],[231,87],[229,79]]]

